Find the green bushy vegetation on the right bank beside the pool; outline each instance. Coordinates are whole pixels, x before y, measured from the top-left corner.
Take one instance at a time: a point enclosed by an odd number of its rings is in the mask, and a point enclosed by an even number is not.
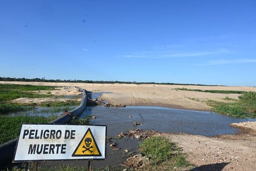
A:
[[[212,107],[212,111],[220,114],[227,114],[235,117],[256,117],[256,92],[246,92],[239,96],[239,100],[231,99],[226,96],[222,101],[207,101],[207,104]]]

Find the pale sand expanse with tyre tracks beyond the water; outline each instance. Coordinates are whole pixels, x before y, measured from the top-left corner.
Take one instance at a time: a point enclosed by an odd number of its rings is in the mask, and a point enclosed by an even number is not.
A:
[[[74,86],[82,87],[93,92],[106,92],[102,99],[110,103],[133,106],[160,106],[188,110],[209,110],[206,102],[209,99],[221,100],[225,96],[237,99],[239,94],[204,93],[194,91],[173,90],[174,88],[189,88],[201,90],[242,90],[256,91],[256,87],[223,87],[223,86],[183,86],[157,84],[86,84],[86,83],[48,83],[48,82],[16,82],[0,81],[0,84],[31,84],[61,86],[54,90],[55,95],[73,95],[77,91]],[[64,87],[65,86],[65,87]],[[66,89],[65,89],[66,88]],[[192,100],[195,98],[195,100]]]

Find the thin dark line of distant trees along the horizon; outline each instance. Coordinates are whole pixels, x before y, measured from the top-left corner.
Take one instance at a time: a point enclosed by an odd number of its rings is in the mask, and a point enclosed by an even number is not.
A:
[[[136,82],[136,81],[92,81],[92,80],[47,80],[44,78],[9,78],[0,77],[0,81],[27,81],[27,82],[58,82],[58,83],[96,83],[96,84],[165,84],[165,85],[198,85],[198,86],[220,86],[220,85],[205,85],[205,84],[178,84],[178,83],[156,83],[156,82]]]

